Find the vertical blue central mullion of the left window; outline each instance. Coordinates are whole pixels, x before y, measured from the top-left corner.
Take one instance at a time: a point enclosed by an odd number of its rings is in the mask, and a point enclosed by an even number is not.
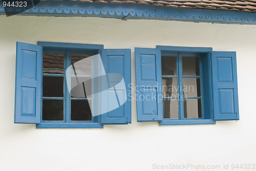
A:
[[[65,96],[65,111],[64,111],[64,115],[65,115],[65,122],[69,123],[70,122],[70,117],[71,117],[71,101],[70,101],[70,93],[68,90],[68,85],[67,83],[71,84],[71,72],[66,72],[66,70],[68,69],[68,67],[71,66],[71,54],[70,51],[66,51],[65,54],[65,79],[64,79],[64,96]],[[71,88],[71,85],[69,85],[69,87]]]

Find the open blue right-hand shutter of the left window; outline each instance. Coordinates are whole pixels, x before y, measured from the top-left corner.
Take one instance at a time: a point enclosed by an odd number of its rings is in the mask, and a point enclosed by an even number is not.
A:
[[[101,54],[106,74],[116,73],[123,76],[123,81],[119,83],[119,86],[109,87],[108,100],[103,101],[107,105],[112,105],[111,103],[116,101],[118,108],[102,114],[101,124],[131,123],[131,49],[104,49]],[[113,79],[108,77],[108,80],[109,85],[113,84],[111,82]],[[110,96],[113,93],[114,98]]]

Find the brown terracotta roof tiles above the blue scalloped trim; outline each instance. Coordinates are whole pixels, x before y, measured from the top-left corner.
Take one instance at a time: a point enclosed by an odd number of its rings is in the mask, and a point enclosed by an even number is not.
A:
[[[41,0],[47,1],[47,0]],[[53,1],[53,0],[51,0]],[[61,1],[61,0],[58,0]],[[62,0],[66,1],[66,0]],[[87,3],[145,4],[172,8],[200,8],[256,12],[256,0],[70,0]]]

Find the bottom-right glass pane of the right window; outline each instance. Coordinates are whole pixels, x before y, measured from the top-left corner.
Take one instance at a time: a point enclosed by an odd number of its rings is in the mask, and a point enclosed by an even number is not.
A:
[[[202,118],[201,99],[185,99],[183,106],[184,118]]]

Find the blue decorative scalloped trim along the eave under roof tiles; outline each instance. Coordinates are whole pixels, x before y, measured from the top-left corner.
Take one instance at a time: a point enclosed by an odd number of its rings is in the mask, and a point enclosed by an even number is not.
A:
[[[73,1],[41,1],[35,7],[20,8],[7,7],[8,11],[24,11],[18,15],[42,15],[52,14],[52,16],[95,16],[109,15],[112,18],[129,19],[164,19],[164,20],[185,20],[187,22],[210,22],[210,23],[239,23],[256,24],[256,13],[219,11],[206,9],[182,9],[155,7],[148,5],[134,4],[100,4],[100,3],[79,3]],[[4,7],[1,4],[0,14]]]

